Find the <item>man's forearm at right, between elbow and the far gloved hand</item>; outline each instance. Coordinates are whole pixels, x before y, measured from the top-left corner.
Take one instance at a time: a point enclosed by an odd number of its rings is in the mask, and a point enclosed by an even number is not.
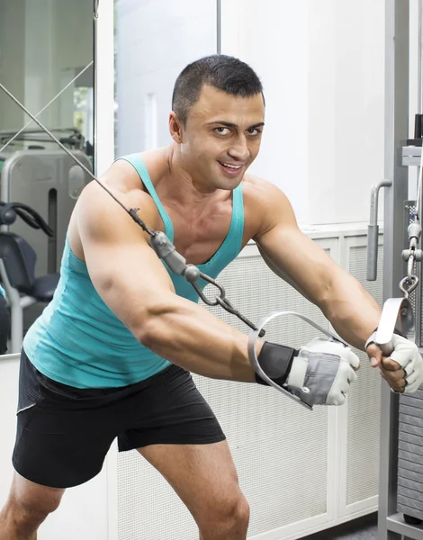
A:
[[[334,278],[319,307],[338,335],[363,351],[365,341],[377,329],[381,319],[377,302],[347,272]]]

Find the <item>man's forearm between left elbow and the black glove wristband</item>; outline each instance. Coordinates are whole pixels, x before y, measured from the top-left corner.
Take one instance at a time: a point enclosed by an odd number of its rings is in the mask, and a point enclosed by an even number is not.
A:
[[[248,361],[247,336],[210,311],[170,295],[148,314],[140,342],[154,353],[195,374],[255,382]],[[262,344],[257,345],[257,354]]]

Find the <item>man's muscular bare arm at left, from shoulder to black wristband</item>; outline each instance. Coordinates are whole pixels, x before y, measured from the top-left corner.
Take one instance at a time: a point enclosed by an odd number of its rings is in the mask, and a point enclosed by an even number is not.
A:
[[[116,193],[139,207],[149,227],[157,209],[146,193]],[[201,306],[175,294],[172,281],[147,235],[97,184],[78,201],[77,219],[85,262],[94,287],[139,342],[196,374],[254,382],[247,336]]]

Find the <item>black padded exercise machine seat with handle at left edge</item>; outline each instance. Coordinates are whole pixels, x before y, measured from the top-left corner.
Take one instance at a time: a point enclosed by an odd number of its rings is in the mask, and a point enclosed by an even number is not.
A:
[[[30,206],[0,202],[1,225],[10,226],[18,217],[39,235],[41,230],[49,238],[54,237],[54,231]],[[0,232],[0,278],[11,311],[11,353],[18,353],[22,347],[24,309],[36,302],[50,302],[58,285],[58,273],[35,277],[36,260],[34,249],[23,237]]]

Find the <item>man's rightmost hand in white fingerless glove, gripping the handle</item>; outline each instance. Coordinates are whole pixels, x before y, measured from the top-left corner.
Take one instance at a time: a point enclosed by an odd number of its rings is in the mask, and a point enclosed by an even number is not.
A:
[[[413,393],[423,383],[423,359],[415,343],[396,334],[392,337],[393,352],[387,358],[372,341],[374,334],[368,339],[367,355],[373,367],[379,367],[383,379],[393,391]]]

